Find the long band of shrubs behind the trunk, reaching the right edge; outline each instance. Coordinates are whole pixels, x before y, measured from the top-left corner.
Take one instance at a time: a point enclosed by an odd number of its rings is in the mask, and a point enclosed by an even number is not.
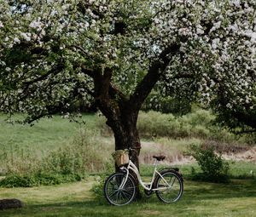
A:
[[[155,137],[199,138],[228,144],[254,144],[254,137],[232,134],[224,126],[215,123],[215,118],[212,111],[198,108],[194,108],[183,116],[163,114],[159,111],[141,111],[138,116],[137,128],[140,136],[145,139]],[[106,125],[106,119],[102,116],[96,117],[96,127],[104,136],[112,134],[111,129]]]

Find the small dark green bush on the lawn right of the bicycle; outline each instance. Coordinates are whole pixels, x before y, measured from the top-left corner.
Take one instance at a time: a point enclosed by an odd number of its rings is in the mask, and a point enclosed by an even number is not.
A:
[[[199,164],[202,173],[192,173],[196,180],[212,182],[228,182],[229,163],[225,162],[221,155],[214,152],[213,147],[190,146],[191,155]]]

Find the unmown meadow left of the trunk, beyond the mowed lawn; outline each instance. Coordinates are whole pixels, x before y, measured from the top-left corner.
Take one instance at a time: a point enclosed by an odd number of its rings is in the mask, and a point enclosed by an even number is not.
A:
[[[15,119],[21,117],[15,115]],[[0,115],[0,175],[12,173],[28,175],[46,168],[67,167],[67,165],[78,168],[78,164],[82,167],[84,160],[91,158],[95,159],[96,163],[100,161],[105,163],[101,156],[95,156],[98,148],[95,144],[103,146],[102,143],[108,142],[98,138],[95,115],[87,114],[79,119],[85,124],[70,123],[67,119],[55,116],[43,118],[33,127],[6,123],[3,121],[5,118],[3,114]],[[112,146],[109,148],[113,150]],[[90,169],[98,168],[94,162],[86,164],[90,164]],[[56,172],[52,170],[50,172]]]

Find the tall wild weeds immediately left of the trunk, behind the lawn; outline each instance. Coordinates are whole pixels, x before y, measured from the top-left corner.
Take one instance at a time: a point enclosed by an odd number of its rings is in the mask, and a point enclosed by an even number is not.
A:
[[[106,171],[110,168],[111,150],[112,146],[104,147],[97,134],[80,128],[70,144],[49,152],[45,161],[43,159],[43,168],[60,174]]]

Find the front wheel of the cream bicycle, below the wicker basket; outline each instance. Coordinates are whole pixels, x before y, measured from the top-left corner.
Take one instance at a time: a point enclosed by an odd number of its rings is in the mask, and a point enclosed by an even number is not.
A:
[[[129,175],[125,182],[125,177],[126,174],[124,173],[114,173],[105,181],[104,195],[108,203],[115,206],[123,206],[131,203],[136,196],[135,180]],[[124,182],[125,185],[120,188]]]

